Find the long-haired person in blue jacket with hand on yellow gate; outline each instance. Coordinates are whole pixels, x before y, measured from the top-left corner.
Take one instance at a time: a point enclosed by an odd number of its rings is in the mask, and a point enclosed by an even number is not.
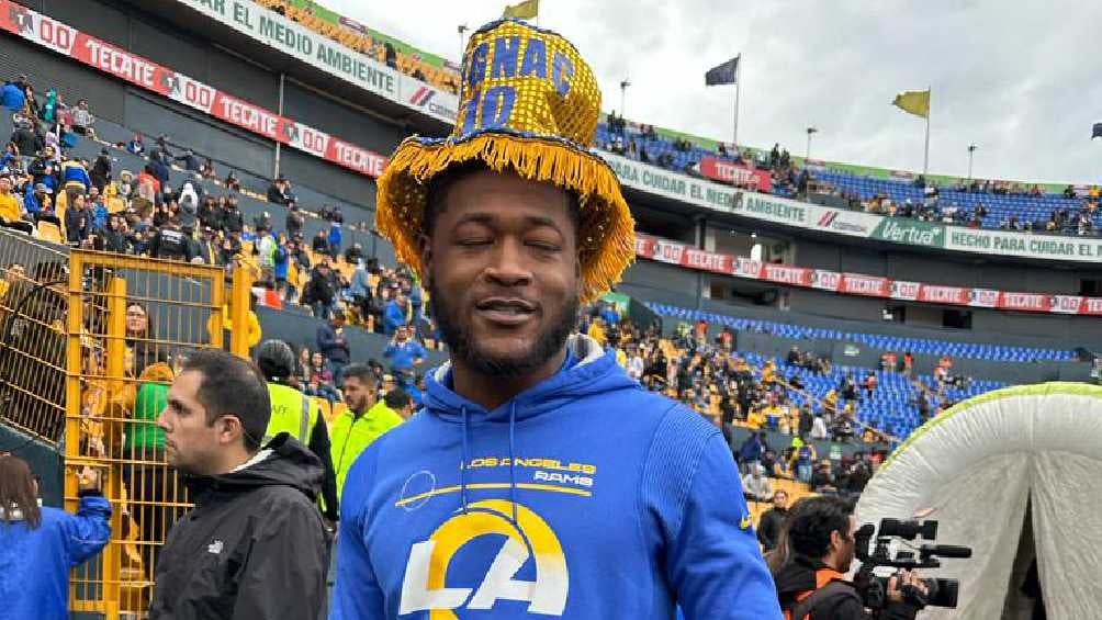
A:
[[[99,476],[85,468],[79,508],[39,505],[39,488],[26,461],[0,455],[0,617],[65,620],[68,574],[104,548],[111,536],[111,504]]]

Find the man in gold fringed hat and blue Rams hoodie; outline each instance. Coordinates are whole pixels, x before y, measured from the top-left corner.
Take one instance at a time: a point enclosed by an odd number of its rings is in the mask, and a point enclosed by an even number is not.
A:
[[[464,64],[456,129],[401,143],[376,214],[451,359],[347,475],[331,618],[780,619],[720,429],[571,335],[635,248],[592,70],[514,20]]]

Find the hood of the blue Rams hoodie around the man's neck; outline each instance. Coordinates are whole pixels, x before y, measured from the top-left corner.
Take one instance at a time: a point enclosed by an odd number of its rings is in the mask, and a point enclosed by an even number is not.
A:
[[[639,389],[639,383],[616,363],[616,352],[605,351],[593,338],[571,336],[566,340],[566,347],[577,360],[576,363],[532,385],[493,411],[486,411],[482,405],[452,391],[452,362],[449,361],[425,377],[424,407],[439,418],[456,424],[462,423],[464,412],[471,422],[507,423],[514,412],[517,421],[523,421],[582,396]]]

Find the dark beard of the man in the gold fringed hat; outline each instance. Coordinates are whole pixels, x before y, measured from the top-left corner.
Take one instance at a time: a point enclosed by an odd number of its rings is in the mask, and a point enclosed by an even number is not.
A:
[[[473,341],[469,334],[471,319],[464,319],[463,313],[450,305],[444,294],[432,284],[434,281],[435,279],[431,279],[429,284],[429,307],[452,359],[462,360],[472,370],[486,377],[517,379],[539,369],[562,349],[577,322],[580,302],[575,293],[563,304],[561,314],[552,315],[551,324],[536,335],[536,342],[526,353],[494,356],[479,349]]]

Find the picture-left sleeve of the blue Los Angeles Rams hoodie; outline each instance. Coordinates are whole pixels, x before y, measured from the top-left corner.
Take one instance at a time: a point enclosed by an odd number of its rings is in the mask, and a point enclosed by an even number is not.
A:
[[[375,576],[371,557],[364,542],[367,519],[364,504],[375,479],[378,445],[380,442],[376,440],[367,447],[345,479],[337,536],[337,577],[333,587],[329,620],[387,618],[382,588]]]

